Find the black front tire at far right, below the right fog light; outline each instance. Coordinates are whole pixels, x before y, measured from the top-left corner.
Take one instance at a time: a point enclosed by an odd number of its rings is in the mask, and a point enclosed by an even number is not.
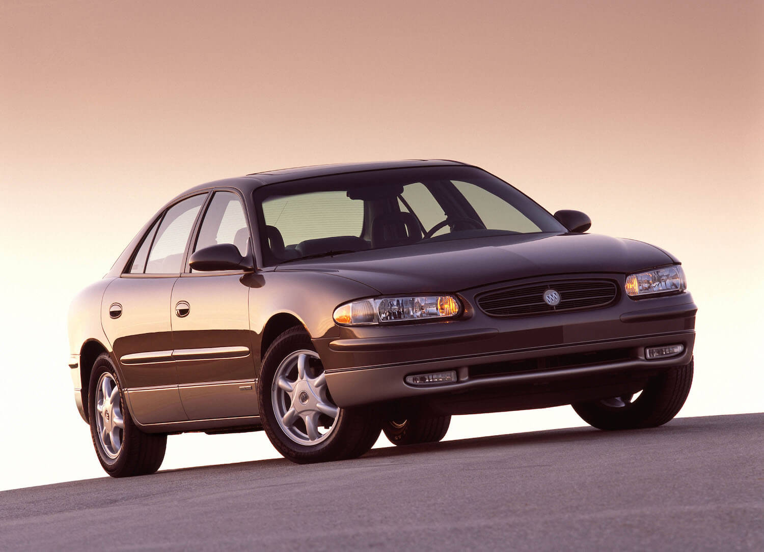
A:
[[[621,401],[623,406],[608,405],[600,400],[578,402],[572,405],[573,409],[598,429],[656,428],[674,418],[685,404],[692,385],[693,364],[690,360],[685,366],[665,370],[652,378],[633,402]]]

